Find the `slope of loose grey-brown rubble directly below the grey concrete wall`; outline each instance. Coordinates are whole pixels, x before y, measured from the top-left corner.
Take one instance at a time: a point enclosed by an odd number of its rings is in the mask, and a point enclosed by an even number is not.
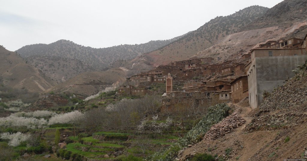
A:
[[[246,131],[289,128],[302,123],[307,116],[307,77],[290,79],[269,94]],[[304,122],[304,121],[303,121]]]

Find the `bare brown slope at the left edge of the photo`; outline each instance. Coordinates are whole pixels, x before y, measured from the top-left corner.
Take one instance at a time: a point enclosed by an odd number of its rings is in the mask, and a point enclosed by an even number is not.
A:
[[[41,71],[27,64],[16,52],[0,46],[0,80],[4,86],[43,92],[55,85]]]

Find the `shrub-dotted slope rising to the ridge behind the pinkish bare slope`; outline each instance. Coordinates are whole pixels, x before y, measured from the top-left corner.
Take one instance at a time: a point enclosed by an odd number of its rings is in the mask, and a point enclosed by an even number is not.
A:
[[[254,19],[262,17],[268,8],[250,6],[229,16],[216,17],[195,31],[156,51],[149,52],[133,60],[133,63],[145,63],[153,66],[171,61],[188,59],[196,52],[215,44],[220,38],[236,33]]]

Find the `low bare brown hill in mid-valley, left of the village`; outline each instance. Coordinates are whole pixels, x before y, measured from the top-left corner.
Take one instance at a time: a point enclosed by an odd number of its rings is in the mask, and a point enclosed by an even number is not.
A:
[[[84,72],[47,90],[46,93],[53,91],[89,96],[97,94],[115,82],[123,82],[125,78],[126,72],[120,68],[102,72]]]

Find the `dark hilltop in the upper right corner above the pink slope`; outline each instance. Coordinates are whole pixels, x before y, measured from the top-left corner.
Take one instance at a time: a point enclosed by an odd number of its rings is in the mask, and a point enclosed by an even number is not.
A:
[[[240,31],[273,26],[289,27],[295,22],[306,21],[307,0],[284,0],[268,10],[262,17],[242,27]]]

